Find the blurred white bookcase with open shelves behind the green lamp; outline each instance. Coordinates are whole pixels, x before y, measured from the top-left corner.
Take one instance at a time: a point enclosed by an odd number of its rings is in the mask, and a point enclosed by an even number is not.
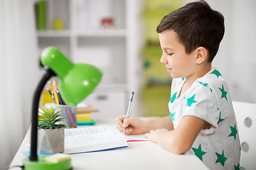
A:
[[[58,47],[73,62],[92,64],[102,70],[100,85],[85,98],[85,103],[100,110],[92,117],[114,118],[125,114],[129,95],[139,91],[142,38],[138,35],[141,10],[138,2],[46,1],[46,28],[37,31],[38,56],[48,46]],[[63,28],[56,30],[56,22],[63,24]],[[139,98],[132,107],[134,112],[139,110]]]

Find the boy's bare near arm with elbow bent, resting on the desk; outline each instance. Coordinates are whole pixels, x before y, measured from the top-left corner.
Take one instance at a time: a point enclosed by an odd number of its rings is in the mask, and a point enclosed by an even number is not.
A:
[[[186,115],[181,119],[181,123],[175,130],[151,130],[145,136],[174,154],[183,154],[191,148],[198,133],[205,125],[205,120]]]

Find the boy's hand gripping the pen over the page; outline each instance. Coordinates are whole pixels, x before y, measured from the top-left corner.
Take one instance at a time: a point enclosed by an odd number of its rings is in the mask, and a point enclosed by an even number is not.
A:
[[[125,132],[124,135],[130,134],[142,134],[144,133],[145,123],[144,120],[140,120],[139,118],[126,118],[126,115],[122,115],[119,118],[114,120],[117,123],[117,129],[120,132]]]

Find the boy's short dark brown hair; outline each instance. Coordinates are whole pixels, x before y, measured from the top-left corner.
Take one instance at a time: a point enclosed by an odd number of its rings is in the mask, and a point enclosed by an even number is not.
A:
[[[191,2],[164,16],[156,32],[164,30],[174,30],[177,33],[187,54],[197,47],[205,47],[209,53],[208,61],[211,62],[223,39],[224,17],[210,8],[206,1]]]

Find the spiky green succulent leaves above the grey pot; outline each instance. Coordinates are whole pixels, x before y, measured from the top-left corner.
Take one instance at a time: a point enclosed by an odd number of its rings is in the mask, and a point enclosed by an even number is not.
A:
[[[66,127],[63,124],[56,124],[65,119],[61,117],[62,111],[58,111],[57,108],[41,108],[38,112],[38,128],[51,130]]]

